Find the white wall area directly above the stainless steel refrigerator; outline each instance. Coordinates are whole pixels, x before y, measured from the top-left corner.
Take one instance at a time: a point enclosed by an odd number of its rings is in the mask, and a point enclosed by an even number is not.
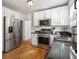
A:
[[[17,12],[15,10],[9,9],[5,6],[2,6],[2,16],[14,16],[14,18],[24,20],[26,15],[21,14],[20,12]]]

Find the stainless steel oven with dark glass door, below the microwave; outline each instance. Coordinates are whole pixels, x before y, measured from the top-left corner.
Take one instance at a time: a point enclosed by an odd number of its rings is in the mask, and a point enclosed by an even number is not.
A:
[[[38,46],[48,47],[50,37],[48,34],[38,34]]]

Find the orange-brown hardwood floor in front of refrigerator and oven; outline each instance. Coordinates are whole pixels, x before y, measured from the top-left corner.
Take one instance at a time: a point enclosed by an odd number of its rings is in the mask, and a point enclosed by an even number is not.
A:
[[[47,53],[46,49],[31,45],[30,41],[23,41],[20,47],[3,53],[3,59],[44,59]]]

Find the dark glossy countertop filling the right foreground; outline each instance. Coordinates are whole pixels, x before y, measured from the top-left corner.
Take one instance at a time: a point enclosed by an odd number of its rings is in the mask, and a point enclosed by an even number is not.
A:
[[[62,41],[55,38],[52,46],[48,49],[48,53],[45,59],[70,59],[71,43],[68,41]],[[72,53],[73,54],[73,53]],[[73,54],[74,58],[77,59],[76,55]]]

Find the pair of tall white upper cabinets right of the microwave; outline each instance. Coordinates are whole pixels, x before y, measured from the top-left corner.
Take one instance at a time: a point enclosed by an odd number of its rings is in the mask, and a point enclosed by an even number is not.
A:
[[[52,25],[69,25],[69,13],[67,6],[52,9]]]

